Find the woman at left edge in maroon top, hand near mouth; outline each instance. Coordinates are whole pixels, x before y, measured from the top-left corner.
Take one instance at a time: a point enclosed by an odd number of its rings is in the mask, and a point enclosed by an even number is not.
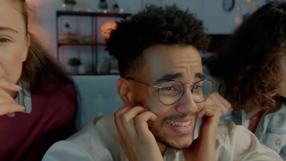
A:
[[[28,26],[25,0],[0,0],[0,161],[40,161],[75,130],[74,83]]]

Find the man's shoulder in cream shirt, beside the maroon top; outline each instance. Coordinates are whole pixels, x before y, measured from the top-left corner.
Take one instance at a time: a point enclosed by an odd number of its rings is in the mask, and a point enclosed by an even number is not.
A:
[[[112,161],[120,147],[113,116],[99,116],[91,119],[83,129],[68,139],[52,145],[44,159],[76,161],[81,157],[87,161]]]

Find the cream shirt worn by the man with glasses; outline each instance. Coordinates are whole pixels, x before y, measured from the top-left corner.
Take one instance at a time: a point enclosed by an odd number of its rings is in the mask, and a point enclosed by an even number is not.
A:
[[[198,129],[196,126],[195,131]],[[216,150],[218,161],[282,161],[276,152],[260,144],[252,132],[231,121],[221,121]],[[185,161],[182,151],[173,148],[164,152],[163,159]],[[113,116],[100,116],[67,140],[52,145],[43,161],[128,160],[120,145]]]

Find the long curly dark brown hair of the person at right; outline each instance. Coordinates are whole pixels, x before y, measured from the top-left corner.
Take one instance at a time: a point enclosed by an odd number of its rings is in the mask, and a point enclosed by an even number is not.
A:
[[[225,97],[246,113],[275,112],[286,98],[270,94],[282,81],[279,65],[286,42],[286,2],[272,1],[250,15],[220,52],[204,63],[226,85]],[[285,47],[284,47],[285,48]]]

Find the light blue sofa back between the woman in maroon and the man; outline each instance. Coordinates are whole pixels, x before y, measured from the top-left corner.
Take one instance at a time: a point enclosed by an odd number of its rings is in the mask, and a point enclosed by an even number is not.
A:
[[[78,129],[94,116],[113,114],[123,106],[116,81],[119,75],[72,76],[79,98]]]

